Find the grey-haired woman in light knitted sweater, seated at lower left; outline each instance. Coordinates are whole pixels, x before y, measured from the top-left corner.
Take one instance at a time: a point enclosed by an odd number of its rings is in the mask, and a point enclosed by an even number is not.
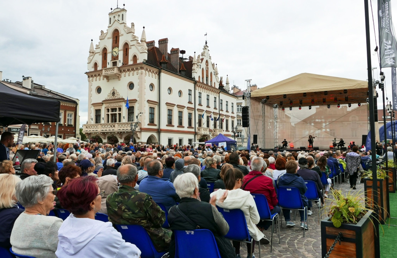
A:
[[[16,184],[16,199],[25,207],[15,220],[10,243],[12,251],[35,258],[56,258],[58,230],[62,219],[47,216],[54,208],[53,180],[46,175],[28,177]]]

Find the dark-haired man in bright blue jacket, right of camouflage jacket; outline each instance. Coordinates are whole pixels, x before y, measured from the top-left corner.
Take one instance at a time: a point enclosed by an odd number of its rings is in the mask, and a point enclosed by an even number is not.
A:
[[[171,181],[162,177],[163,164],[158,160],[150,161],[147,164],[147,178],[140,182],[139,191],[149,194],[155,202],[164,204],[169,210],[171,206],[179,202],[179,197]]]

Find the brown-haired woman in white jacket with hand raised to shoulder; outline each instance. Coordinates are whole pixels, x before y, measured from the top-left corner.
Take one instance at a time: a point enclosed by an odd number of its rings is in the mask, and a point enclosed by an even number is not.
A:
[[[240,189],[243,185],[243,173],[239,169],[228,169],[223,178],[226,190],[219,189],[210,196],[216,195],[216,205],[221,208],[241,209],[244,212],[250,236],[255,241],[260,241],[265,235],[256,226],[260,221],[257,205],[250,192]],[[218,202],[225,191],[228,192],[226,199],[223,202]],[[233,241],[233,247],[236,251],[236,257],[239,258],[240,242]],[[247,244],[247,253],[250,253],[250,251],[251,246]]]

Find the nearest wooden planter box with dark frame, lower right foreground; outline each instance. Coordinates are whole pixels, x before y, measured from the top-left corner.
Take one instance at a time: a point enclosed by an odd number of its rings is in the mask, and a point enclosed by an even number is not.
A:
[[[325,257],[330,250],[339,232],[343,240],[336,243],[330,258],[375,258],[379,250],[375,248],[376,236],[375,227],[372,224],[372,210],[369,210],[357,224],[342,223],[335,228],[330,218],[321,221],[321,252]]]

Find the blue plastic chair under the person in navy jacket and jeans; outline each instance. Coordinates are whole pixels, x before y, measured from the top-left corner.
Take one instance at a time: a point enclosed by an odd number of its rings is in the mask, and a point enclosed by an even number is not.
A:
[[[299,189],[296,187],[278,187],[278,204],[281,209],[303,210],[303,222],[306,222],[307,206],[303,205]],[[305,227],[303,227],[305,237]]]

